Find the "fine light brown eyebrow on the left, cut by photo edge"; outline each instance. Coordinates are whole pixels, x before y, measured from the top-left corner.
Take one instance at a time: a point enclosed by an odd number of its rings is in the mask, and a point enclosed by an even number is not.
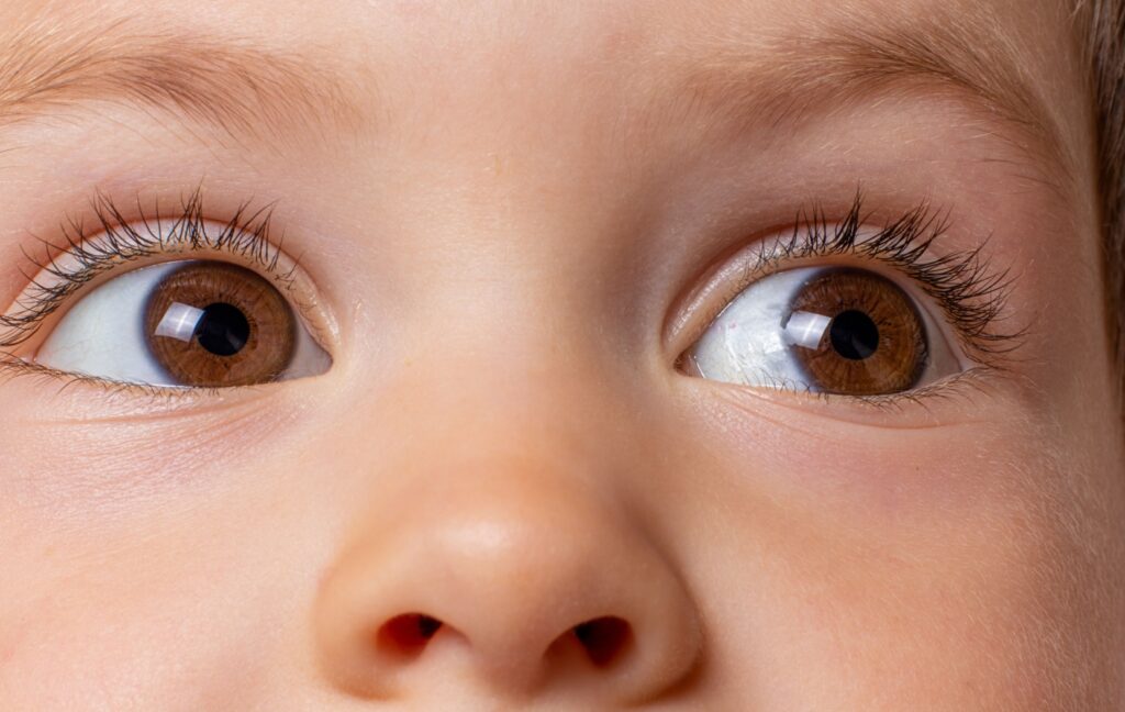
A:
[[[68,33],[33,24],[0,35],[0,126],[86,102],[182,115],[228,135],[354,125],[336,75],[291,51],[241,38],[141,31],[119,21]]]

